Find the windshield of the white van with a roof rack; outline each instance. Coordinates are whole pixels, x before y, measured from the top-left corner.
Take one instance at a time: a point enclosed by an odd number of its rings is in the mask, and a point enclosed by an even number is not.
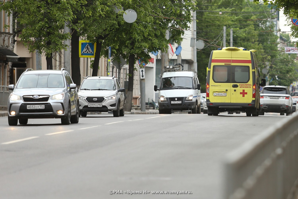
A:
[[[162,78],[162,90],[166,89],[192,89],[193,79],[191,77],[165,77]]]

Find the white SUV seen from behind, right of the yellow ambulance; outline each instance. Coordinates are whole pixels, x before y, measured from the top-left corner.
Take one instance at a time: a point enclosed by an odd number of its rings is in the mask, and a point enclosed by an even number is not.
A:
[[[260,112],[280,113],[280,115],[291,115],[294,92],[290,92],[286,86],[265,86],[260,94]]]

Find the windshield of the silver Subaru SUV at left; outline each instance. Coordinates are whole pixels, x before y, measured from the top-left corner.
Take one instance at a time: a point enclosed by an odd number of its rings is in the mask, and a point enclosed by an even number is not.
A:
[[[64,88],[61,74],[22,75],[16,88]]]

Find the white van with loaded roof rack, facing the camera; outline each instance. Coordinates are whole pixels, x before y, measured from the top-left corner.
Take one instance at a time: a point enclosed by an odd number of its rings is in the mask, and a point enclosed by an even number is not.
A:
[[[159,114],[171,114],[172,111],[189,111],[188,113],[201,113],[201,85],[197,72],[194,70],[179,70],[176,66],[165,66],[159,90]]]

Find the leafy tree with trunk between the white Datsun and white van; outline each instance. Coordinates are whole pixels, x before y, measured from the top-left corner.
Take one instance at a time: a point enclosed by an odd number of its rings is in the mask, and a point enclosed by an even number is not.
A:
[[[133,7],[133,5],[135,7]],[[124,1],[125,9],[134,9],[137,19],[133,23],[119,21],[119,29],[107,37],[105,48],[112,46],[113,55],[128,60],[128,93],[125,111],[131,111],[134,85],[134,64],[139,58],[150,59],[150,52],[166,51],[170,41],[180,43],[184,30],[189,28],[191,10],[195,10],[193,1]],[[124,9],[124,10],[125,10]],[[170,30],[169,40],[165,38],[166,30]]]

